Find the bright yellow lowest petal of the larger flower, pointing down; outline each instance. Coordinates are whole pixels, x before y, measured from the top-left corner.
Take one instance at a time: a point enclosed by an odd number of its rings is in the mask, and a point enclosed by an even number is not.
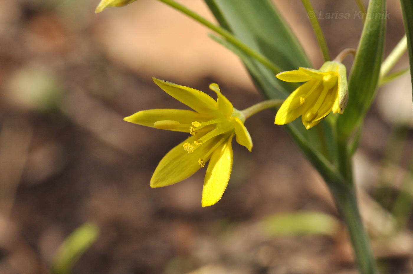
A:
[[[212,153],[202,190],[203,207],[212,206],[218,202],[228,185],[233,165],[231,141],[232,137]]]

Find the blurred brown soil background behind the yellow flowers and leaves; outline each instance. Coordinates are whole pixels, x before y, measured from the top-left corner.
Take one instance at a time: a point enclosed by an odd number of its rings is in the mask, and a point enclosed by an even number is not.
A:
[[[203,1],[179,2],[213,20]],[[332,56],[356,47],[362,22],[353,18],[355,2],[312,2],[317,14],[351,14],[320,19]],[[319,67],[301,1],[275,3]],[[0,0],[0,273],[50,273],[59,244],[86,221],[101,234],[74,273],[357,273],[343,231],[275,237],[258,225],[295,210],[339,217],[323,181],[273,124],[271,111],[247,120],[254,149],[234,144],[231,180],[216,205],[201,207],[205,170],[150,188],[159,160],[186,137],[122,120],[143,109],[185,108],[152,76],[205,92],[218,83],[237,109],[262,97],[237,57],[175,10],[139,0],[94,14],[96,5]],[[386,54],[404,34],[399,1],[389,0],[388,11]],[[404,58],[399,66],[407,65]],[[368,114],[355,157],[366,191],[379,180],[392,125],[413,124],[409,85],[404,77],[383,87]],[[410,234],[394,250],[375,250],[393,260],[392,273],[409,273]]]

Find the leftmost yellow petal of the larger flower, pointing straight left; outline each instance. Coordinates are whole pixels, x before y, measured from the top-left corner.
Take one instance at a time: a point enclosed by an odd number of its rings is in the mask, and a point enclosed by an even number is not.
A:
[[[157,121],[173,120],[177,121],[180,125],[177,128],[171,130],[189,132],[192,122],[206,122],[210,120],[211,117],[212,116],[185,109],[148,109],[125,117],[123,118],[123,120],[138,125],[145,125],[151,128],[155,128],[154,123],[156,123]]]

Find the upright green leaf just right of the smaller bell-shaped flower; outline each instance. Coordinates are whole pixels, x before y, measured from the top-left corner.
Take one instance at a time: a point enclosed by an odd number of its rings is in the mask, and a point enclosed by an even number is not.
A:
[[[349,80],[349,102],[337,119],[338,134],[347,139],[360,125],[373,101],[383,59],[386,1],[371,0]]]

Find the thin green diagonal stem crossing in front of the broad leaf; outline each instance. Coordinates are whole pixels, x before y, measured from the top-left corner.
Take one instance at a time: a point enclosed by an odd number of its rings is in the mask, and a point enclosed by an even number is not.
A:
[[[206,26],[207,28],[211,29],[212,31],[215,31],[216,33],[222,35],[225,37],[228,41],[239,47],[243,52],[248,54],[249,56],[254,57],[258,61],[260,61],[264,66],[267,68],[271,69],[273,73],[277,74],[280,71],[282,71],[277,65],[273,64],[267,57],[263,56],[259,52],[256,52],[253,50],[251,47],[248,47],[244,43],[242,43],[240,40],[238,40],[232,33],[229,31],[225,30],[224,28],[221,28],[220,26],[216,26],[212,24],[210,21],[205,19],[204,17],[200,16],[196,12],[193,12],[192,10],[188,9],[187,7],[175,2],[174,0],[159,0],[161,2],[164,2],[166,5],[169,5],[175,9],[178,9],[180,12],[183,12],[184,14],[188,15],[192,19],[195,19],[202,25]]]

